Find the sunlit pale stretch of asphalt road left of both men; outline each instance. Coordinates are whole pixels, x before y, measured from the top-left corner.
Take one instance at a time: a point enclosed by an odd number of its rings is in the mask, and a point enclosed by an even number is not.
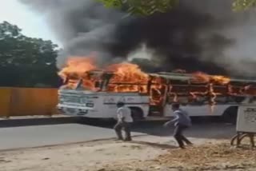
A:
[[[65,120],[65,119],[64,119]],[[2,124],[0,128],[0,149],[16,149],[36,147],[44,145],[58,145],[80,141],[92,141],[98,139],[112,138],[115,136],[112,124],[88,125],[78,124],[74,121],[63,123],[50,121],[51,125],[44,121],[10,121]],[[37,125],[36,122],[40,122]],[[105,122],[103,122],[105,123]],[[0,122],[1,125],[1,122]],[[4,125],[4,126],[3,126]],[[13,125],[13,126],[12,126]],[[135,133],[136,135],[141,133]]]

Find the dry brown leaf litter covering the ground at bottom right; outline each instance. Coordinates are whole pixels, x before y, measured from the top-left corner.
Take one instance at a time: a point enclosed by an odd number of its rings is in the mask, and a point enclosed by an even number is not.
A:
[[[154,160],[131,162],[106,167],[107,171],[178,171],[178,170],[253,170],[256,150],[249,147],[231,148],[227,142],[199,145],[187,149],[169,149]]]

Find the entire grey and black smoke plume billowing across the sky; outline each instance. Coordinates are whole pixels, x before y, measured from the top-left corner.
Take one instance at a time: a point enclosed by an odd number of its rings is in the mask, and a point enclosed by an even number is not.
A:
[[[234,13],[231,0],[181,0],[174,10],[149,17],[127,17],[94,0],[20,1],[48,18],[64,47],[59,64],[91,52],[104,63],[124,61],[144,43],[150,58],[134,62],[147,71],[254,74],[256,19],[251,11]]]

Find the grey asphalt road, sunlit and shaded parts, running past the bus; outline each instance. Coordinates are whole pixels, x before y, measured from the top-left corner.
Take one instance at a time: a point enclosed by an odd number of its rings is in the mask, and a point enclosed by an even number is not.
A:
[[[0,121],[0,149],[16,149],[43,145],[58,145],[79,141],[91,141],[114,137],[114,123],[84,121],[75,123],[66,118],[50,120]],[[162,122],[143,122],[134,125],[134,135],[151,134],[170,136],[172,130],[163,129]],[[223,124],[194,125],[188,131],[190,137],[231,137],[234,126]]]

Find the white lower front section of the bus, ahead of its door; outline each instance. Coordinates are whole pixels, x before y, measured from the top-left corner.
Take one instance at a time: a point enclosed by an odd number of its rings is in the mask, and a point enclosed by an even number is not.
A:
[[[118,101],[142,113],[149,113],[150,97],[138,93],[88,92],[84,90],[59,89],[58,109],[62,114],[78,117],[113,118],[116,116]]]

